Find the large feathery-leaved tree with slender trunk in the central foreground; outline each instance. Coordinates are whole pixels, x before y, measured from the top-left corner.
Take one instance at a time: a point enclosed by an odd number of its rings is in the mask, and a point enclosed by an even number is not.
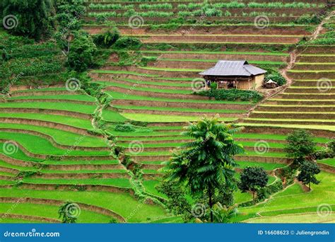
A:
[[[182,135],[192,137],[194,141],[177,149],[163,168],[167,172],[167,180],[186,184],[192,194],[207,192],[211,221],[215,192],[222,185],[230,188],[235,186],[233,176],[237,164],[233,156],[244,154],[245,151],[241,144],[234,141],[233,134],[241,129],[242,127],[225,125],[219,121],[218,116],[205,116],[184,127]]]

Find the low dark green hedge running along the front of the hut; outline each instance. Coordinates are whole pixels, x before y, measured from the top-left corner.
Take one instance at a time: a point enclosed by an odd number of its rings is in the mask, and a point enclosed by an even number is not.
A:
[[[201,91],[194,93],[200,96],[208,96],[216,100],[242,100],[258,102],[263,98],[257,91],[240,89],[211,89],[210,91]]]

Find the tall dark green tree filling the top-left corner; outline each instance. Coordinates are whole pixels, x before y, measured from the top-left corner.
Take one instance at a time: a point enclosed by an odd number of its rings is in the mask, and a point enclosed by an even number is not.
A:
[[[46,39],[52,35],[54,1],[3,0],[0,4],[2,18],[11,25],[10,28],[7,27],[11,33],[35,40]]]

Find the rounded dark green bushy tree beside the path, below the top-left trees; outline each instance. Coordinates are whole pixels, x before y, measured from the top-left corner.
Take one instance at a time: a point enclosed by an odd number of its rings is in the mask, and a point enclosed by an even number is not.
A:
[[[66,65],[78,72],[86,71],[93,67],[93,57],[96,51],[97,47],[89,35],[78,35],[71,42],[71,51]]]

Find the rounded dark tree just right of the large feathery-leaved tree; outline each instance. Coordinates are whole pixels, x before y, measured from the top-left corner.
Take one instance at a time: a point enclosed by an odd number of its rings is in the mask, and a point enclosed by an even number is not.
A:
[[[254,193],[259,188],[264,188],[268,183],[269,177],[264,168],[259,166],[248,166],[245,168],[240,176],[240,183],[238,188],[242,192],[251,191],[252,199],[254,199]]]

